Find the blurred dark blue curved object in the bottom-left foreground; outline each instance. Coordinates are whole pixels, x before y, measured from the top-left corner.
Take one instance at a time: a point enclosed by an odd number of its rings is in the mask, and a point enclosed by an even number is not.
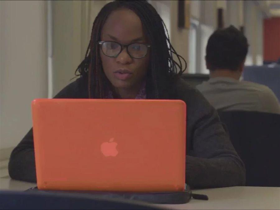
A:
[[[0,209],[159,209],[122,199],[98,199],[88,194],[0,191]]]

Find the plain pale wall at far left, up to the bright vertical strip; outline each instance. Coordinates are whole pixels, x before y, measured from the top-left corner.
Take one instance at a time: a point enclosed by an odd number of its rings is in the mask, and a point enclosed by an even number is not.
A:
[[[47,97],[46,23],[44,1],[0,1],[1,150],[32,126],[31,101]]]

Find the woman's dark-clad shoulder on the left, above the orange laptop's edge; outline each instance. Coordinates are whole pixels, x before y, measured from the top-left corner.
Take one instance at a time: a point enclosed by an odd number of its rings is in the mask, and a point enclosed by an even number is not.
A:
[[[79,77],[65,86],[54,98],[88,98],[87,78]]]

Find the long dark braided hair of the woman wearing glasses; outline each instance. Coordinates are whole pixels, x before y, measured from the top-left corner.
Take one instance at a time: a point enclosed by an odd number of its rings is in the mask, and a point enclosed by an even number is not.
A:
[[[76,69],[76,76],[88,77],[89,98],[104,98],[109,81],[103,72],[97,42],[100,41],[101,30],[110,13],[122,8],[130,9],[138,15],[149,44],[152,45],[146,81],[147,98],[168,98],[170,85],[184,72],[186,61],[171,45],[166,26],[155,8],[144,0],[114,1],[100,10],[93,22],[91,40],[84,60]],[[173,59],[173,55],[179,63]]]

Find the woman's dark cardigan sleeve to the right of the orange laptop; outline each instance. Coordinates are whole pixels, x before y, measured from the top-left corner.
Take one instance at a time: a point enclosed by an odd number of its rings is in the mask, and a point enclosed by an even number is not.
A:
[[[182,80],[178,97],[187,104],[186,183],[192,188],[244,185],[244,163],[217,111]]]

